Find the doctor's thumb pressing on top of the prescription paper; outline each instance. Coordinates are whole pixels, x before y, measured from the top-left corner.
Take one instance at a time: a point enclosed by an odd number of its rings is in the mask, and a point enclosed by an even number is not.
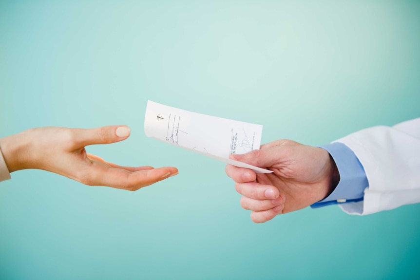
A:
[[[229,155],[229,158],[245,162],[256,167],[271,167],[281,160],[281,147],[254,149],[245,154],[231,154]]]

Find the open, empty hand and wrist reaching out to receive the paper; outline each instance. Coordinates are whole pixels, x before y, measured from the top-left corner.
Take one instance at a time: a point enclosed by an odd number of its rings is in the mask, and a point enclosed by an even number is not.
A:
[[[178,174],[173,167],[123,167],[86,153],[85,146],[110,144],[130,135],[127,126],[96,129],[35,128],[0,139],[10,172],[36,168],[89,186],[137,190]]]

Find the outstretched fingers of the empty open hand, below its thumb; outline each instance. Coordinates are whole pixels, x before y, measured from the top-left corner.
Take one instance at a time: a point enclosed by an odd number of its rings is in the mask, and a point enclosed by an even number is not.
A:
[[[178,169],[163,167],[139,171],[112,168],[106,163],[92,162],[92,168],[78,181],[89,186],[106,186],[127,190],[137,190],[178,174]],[[148,168],[148,167],[147,167]]]

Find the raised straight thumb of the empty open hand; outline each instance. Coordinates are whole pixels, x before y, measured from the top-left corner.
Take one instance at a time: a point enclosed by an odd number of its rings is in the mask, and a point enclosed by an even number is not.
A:
[[[127,139],[130,136],[128,126],[106,126],[95,129],[73,129],[74,141],[77,148],[95,145],[109,144]]]

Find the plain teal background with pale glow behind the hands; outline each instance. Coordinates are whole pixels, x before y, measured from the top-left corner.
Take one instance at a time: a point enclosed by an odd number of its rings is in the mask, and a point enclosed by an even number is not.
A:
[[[253,224],[223,163],[143,132],[148,99],[263,143],[394,125],[420,115],[419,50],[420,1],[0,1],[0,137],[126,124],[88,152],[180,171],[136,192],[12,173],[0,279],[420,279],[420,205]]]

